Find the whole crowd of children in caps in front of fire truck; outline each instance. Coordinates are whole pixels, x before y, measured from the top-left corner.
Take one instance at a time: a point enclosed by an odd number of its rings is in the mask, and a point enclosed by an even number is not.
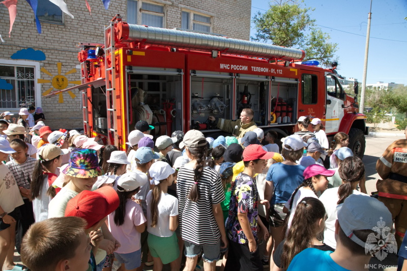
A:
[[[347,135],[328,148],[317,118],[300,117],[281,140],[259,128],[238,139],[189,130],[153,140],[154,126],[139,121],[125,152],[52,131],[41,109],[33,120],[22,109],[17,123],[9,113],[0,120],[5,270],[110,271],[117,262],[192,271],[200,260],[207,271],[218,260],[221,270],[359,270],[372,228],[392,225],[366,195]],[[14,264],[14,247],[26,267]]]

